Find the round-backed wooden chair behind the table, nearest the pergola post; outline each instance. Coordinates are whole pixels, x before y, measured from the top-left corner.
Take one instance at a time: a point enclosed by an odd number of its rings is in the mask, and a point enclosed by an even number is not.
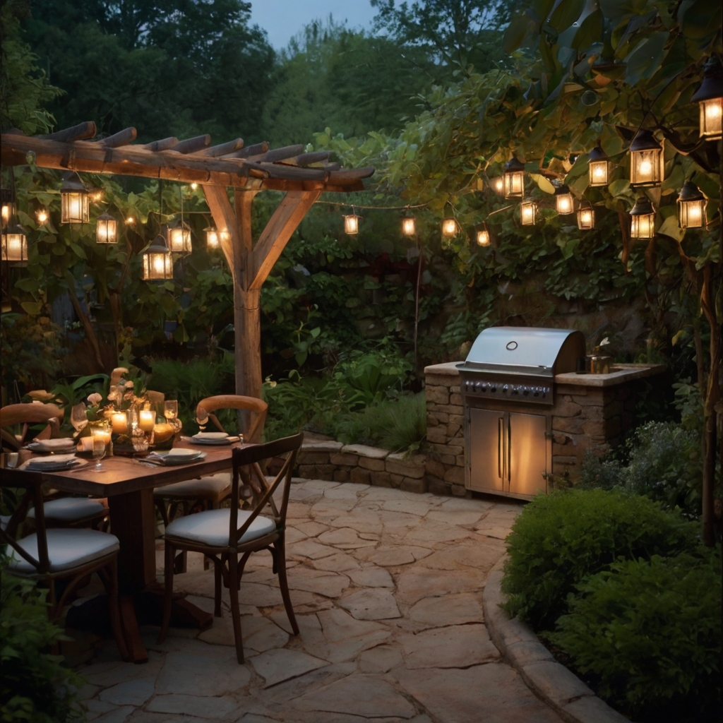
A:
[[[196,406],[196,419],[208,419],[215,424],[221,432],[223,429],[218,416],[214,414],[219,409],[236,409],[249,413],[249,432],[244,434],[247,442],[256,441],[260,436],[266,420],[268,404],[261,399],[244,397],[239,394],[223,394],[202,399]],[[153,500],[161,512],[163,523],[167,526],[174,520],[179,507],[187,515],[193,508],[203,510],[218,508],[219,502],[231,494],[231,471],[219,472],[199,479],[189,479],[186,482],[167,484],[166,487],[156,487],[153,490]]]

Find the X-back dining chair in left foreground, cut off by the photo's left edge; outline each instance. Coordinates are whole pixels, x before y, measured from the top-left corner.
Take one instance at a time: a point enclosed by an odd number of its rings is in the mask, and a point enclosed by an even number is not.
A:
[[[30,474],[30,473],[29,473]],[[2,487],[9,487],[0,482]],[[12,487],[17,489],[17,483]],[[17,539],[28,508],[35,508],[35,532]],[[89,529],[48,529],[43,515],[43,490],[40,480],[28,482],[20,503],[4,526],[0,542],[7,546],[7,572],[29,578],[48,587],[48,617],[61,617],[71,594],[91,573],[98,573],[108,593],[111,628],[123,659],[128,651],[123,638],[118,600],[118,538],[107,532]],[[56,582],[68,581],[60,596]]]

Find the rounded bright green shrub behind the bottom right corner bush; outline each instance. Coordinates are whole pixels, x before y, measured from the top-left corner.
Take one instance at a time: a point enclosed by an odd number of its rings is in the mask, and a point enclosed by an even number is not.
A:
[[[570,489],[538,495],[507,538],[505,609],[538,630],[567,612],[567,597],[619,557],[649,560],[692,552],[698,526],[647,497],[621,489]]]

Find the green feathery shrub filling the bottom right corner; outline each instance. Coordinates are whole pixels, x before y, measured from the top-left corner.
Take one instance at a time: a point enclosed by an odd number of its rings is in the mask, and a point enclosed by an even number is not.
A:
[[[721,560],[706,552],[613,562],[577,586],[544,637],[635,720],[717,720]]]

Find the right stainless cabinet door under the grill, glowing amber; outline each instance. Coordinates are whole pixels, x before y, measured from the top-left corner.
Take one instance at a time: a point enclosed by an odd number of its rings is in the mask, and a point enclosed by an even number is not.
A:
[[[537,414],[510,412],[507,440],[508,465],[506,472],[509,492],[517,495],[536,495],[547,492],[547,442],[545,418]]]

